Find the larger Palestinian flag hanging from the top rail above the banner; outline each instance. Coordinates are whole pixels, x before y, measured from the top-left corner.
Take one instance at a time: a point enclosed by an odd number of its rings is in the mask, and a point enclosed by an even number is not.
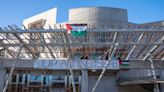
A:
[[[73,36],[85,36],[87,34],[87,24],[66,24],[68,34]]]

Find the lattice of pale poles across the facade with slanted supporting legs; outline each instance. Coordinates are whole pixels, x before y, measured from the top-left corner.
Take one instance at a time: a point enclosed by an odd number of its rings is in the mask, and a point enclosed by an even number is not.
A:
[[[95,92],[112,58],[150,61],[153,78],[156,80],[153,61],[163,61],[164,29],[88,29],[87,35],[75,37],[67,34],[64,29],[21,30],[9,26],[0,29],[0,53],[3,53],[0,56],[3,62],[6,59],[15,60],[3,92],[8,88],[18,60],[54,59],[59,62],[60,59],[67,62],[107,60],[93,87],[92,92]],[[73,92],[76,92],[71,65],[69,71]],[[158,85],[156,89],[156,92],[159,92]]]

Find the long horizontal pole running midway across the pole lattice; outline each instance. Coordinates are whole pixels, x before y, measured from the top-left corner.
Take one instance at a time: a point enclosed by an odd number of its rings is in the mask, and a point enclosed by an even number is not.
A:
[[[67,43],[22,43],[24,46],[26,47],[34,47],[34,46],[68,46]],[[19,43],[0,43],[0,46],[3,46],[3,47],[17,47],[19,46],[20,44]],[[114,45],[113,43],[109,42],[109,43],[69,43],[69,45],[71,46],[111,46],[111,45]],[[144,45],[147,45],[147,46],[152,46],[152,45],[163,45],[162,42],[148,42],[148,43],[145,43],[145,42],[141,42],[141,43],[137,43],[137,42],[120,42],[119,45],[140,45],[140,46],[144,46]],[[25,48],[26,48],[25,47]]]

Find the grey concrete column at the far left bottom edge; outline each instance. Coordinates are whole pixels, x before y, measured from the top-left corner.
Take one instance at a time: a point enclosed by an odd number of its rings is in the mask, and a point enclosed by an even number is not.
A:
[[[6,79],[6,69],[0,68],[0,92],[3,91]]]

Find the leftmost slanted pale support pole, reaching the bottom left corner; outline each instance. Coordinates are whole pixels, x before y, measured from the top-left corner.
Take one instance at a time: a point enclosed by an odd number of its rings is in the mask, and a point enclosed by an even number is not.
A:
[[[7,81],[6,81],[6,83],[5,83],[5,86],[4,86],[4,88],[3,88],[3,92],[6,92],[6,90],[7,90],[7,88],[8,88],[9,81],[11,80],[12,75],[13,75],[13,73],[14,73],[15,65],[16,65],[16,63],[17,63],[17,61],[18,61],[18,59],[19,59],[19,56],[20,56],[20,52],[21,52],[21,51],[22,51],[22,45],[19,47],[18,53],[17,53],[17,55],[16,55],[16,60],[14,61],[13,65],[12,65],[12,67],[11,67],[10,74],[9,74],[9,76],[8,76],[8,78],[7,78]]]

